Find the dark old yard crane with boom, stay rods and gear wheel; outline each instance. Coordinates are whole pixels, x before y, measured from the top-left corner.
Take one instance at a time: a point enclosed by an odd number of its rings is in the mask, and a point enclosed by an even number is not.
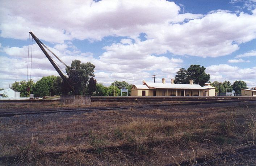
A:
[[[62,78],[62,80],[64,81],[64,83],[68,86],[68,88],[70,89],[70,91],[72,91],[73,93],[75,93],[75,95],[79,95],[79,88],[78,86],[76,86],[77,84],[79,84],[81,82],[81,76],[80,74],[76,71],[76,70],[72,70],[70,69],[70,67],[68,67],[62,60],[60,60],[53,52],[51,52],[51,50],[49,48],[46,47],[45,44],[43,44],[32,32],[29,32],[29,34],[32,36],[32,38],[35,40],[35,42],[38,44],[38,46],[40,47],[40,49],[43,51],[43,53],[45,54],[45,56],[48,58],[48,60],[51,62],[51,64],[53,65],[54,69],[58,72],[59,76]],[[66,66],[70,72],[68,73],[68,78],[63,75],[63,73],[60,71],[59,67],[55,64],[55,62],[53,61],[53,59],[51,58],[51,56],[47,53],[47,51],[45,50],[45,48],[52,53],[60,62],[62,62],[62,64],[64,66]]]

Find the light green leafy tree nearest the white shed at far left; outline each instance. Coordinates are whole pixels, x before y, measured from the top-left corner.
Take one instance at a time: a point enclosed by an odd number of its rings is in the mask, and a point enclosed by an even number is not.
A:
[[[35,83],[33,80],[29,80],[26,82],[25,80],[22,80],[20,82],[14,82],[11,86],[11,89],[13,89],[16,92],[20,92],[20,97],[29,97],[29,92],[27,91],[27,88],[30,87],[30,93],[34,93],[34,87]]]

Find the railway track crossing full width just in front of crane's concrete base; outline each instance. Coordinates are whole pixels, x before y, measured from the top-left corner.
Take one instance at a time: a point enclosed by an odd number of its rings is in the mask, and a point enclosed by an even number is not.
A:
[[[93,111],[107,111],[107,110],[125,110],[125,109],[138,109],[138,108],[152,108],[152,107],[164,107],[164,106],[178,106],[178,105],[199,105],[199,104],[215,104],[215,103],[229,103],[229,102],[244,102],[244,101],[256,101],[254,100],[224,100],[224,101],[194,101],[186,103],[175,104],[147,104],[147,105],[130,105],[130,106],[111,106],[111,107],[89,107],[89,108],[67,108],[67,109],[51,109],[51,110],[25,110],[25,111],[13,111],[13,112],[0,112],[0,117],[12,117],[16,115],[29,115],[29,114],[49,114],[49,113],[66,113],[66,112],[93,112]]]

